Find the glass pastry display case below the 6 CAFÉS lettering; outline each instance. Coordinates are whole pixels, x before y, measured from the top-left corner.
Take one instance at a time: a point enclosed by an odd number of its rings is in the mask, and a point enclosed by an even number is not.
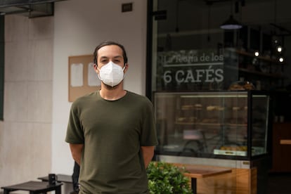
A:
[[[154,93],[157,155],[251,160],[269,154],[269,93]]]

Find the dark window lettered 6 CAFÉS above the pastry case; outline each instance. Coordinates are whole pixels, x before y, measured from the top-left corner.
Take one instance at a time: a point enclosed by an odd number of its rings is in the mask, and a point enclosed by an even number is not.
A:
[[[276,49],[286,39],[274,33],[273,17],[254,11],[264,13],[262,1],[150,2],[152,92],[221,91],[238,81],[257,90],[283,86],[286,60]],[[266,12],[273,11],[273,1],[266,2]],[[221,29],[230,15],[241,28]]]

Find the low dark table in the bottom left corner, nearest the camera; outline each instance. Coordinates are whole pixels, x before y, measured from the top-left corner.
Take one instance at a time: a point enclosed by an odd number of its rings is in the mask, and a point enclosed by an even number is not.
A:
[[[60,186],[62,183],[56,183],[55,185],[48,185],[47,182],[41,181],[28,181],[12,186],[1,187],[4,189],[4,194],[8,194],[14,190],[27,190],[30,194],[46,193],[48,191],[55,190],[56,194],[61,194]]]

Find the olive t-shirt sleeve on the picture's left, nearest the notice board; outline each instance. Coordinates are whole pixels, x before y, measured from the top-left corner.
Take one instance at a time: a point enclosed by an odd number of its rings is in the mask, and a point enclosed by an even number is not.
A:
[[[67,143],[83,144],[84,134],[79,120],[79,111],[74,103],[70,109],[69,122],[67,124],[67,134],[65,136]]]

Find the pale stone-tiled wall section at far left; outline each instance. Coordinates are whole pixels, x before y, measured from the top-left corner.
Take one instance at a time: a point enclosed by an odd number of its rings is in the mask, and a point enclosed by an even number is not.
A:
[[[0,187],[51,170],[53,17],[5,16]]]

